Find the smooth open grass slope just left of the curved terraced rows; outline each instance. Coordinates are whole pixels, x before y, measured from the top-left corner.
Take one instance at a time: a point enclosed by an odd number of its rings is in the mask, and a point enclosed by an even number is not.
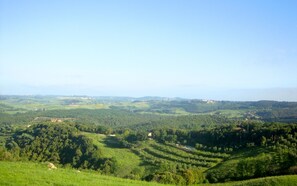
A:
[[[83,134],[93,139],[94,144],[102,150],[104,157],[115,157],[117,159],[119,168],[116,174],[118,176],[125,177],[133,169],[140,166],[140,157],[129,149],[118,147],[114,137],[94,133]]]

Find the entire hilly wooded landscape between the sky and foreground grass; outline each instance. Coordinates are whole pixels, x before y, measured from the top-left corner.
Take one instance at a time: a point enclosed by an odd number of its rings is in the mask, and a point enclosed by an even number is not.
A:
[[[294,118],[266,121],[293,102],[4,96],[0,107],[2,161],[176,185],[297,174]]]

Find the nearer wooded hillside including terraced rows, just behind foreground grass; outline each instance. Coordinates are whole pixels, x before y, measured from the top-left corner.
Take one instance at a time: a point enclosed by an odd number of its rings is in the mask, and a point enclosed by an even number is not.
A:
[[[17,130],[4,142],[0,158],[50,161],[117,177],[182,185],[296,174],[297,126],[293,124],[155,129],[151,137],[129,129],[108,136],[85,127],[43,122]]]

